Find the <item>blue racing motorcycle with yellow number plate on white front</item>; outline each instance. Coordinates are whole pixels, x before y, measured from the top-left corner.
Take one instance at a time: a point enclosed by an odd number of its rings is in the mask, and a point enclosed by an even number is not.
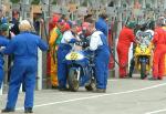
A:
[[[92,91],[95,87],[94,54],[87,54],[85,50],[74,44],[72,50],[66,54],[65,61],[69,70],[69,89],[76,92],[80,86],[85,85],[87,91]]]

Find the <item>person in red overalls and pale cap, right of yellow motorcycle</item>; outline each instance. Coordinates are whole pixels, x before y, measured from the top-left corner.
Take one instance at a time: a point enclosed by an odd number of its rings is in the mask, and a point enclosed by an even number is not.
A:
[[[153,39],[153,44],[155,46],[153,56],[153,77],[149,80],[163,80],[164,54],[166,53],[166,31],[163,29],[165,24],[165,18],[159,17]]]

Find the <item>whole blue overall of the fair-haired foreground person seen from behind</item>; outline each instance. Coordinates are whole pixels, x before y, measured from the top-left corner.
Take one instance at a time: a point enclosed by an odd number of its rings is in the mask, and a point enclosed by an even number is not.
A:
[[[48,44],[35,34],[21,32],[12,38],[7,49],[2,51],[4,54],[14,55],[6,108],[15,108],[21,83],[24,83],[25,87],[24,108],[33,107],[38,69],[38,48],[42,51],[46,51]]]

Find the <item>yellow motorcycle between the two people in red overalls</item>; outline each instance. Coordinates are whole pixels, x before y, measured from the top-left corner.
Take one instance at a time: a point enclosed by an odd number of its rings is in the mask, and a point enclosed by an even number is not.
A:
[[[136,71],[141,72],[142,80],[149,74],[152,69],[153,44],[151,41],[153,39],[153,30],[138,30],[136,32],[136,39],[139,43],[136,44],[134,58],[132,60],[134,62],[132,65],[135,65]],[[132,69],[129,69],[129,73],[133,73]],[[132,76],[132,74],[129,75]]]

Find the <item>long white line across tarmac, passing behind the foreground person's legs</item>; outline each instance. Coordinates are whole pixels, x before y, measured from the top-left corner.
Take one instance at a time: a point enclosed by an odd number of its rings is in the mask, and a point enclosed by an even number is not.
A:
[[[42,107],[42,106],[49,106],[49,105],[55,105],[55,104],[62,104],[62,103],[69,103],[69,102],[75,102],[75,101],[97,99],[97,97],[103,97],[103,96],[121,95],[121,94],[141,92],[141,91],[156,89],[156,87],[165,86],[165,85],[166,85],[166,83],[162,83],[162,84],[157,84],[157,85],[153,85],[153,86],[148,86],[148,87],[143,87],[143,89],[137,89],[137,90],[131,90],[131,91],[124,91],[124,92],[117,92],[117,93],[110,93],[110,94],[98,94],[98,95],[93,95],[93,96],[87,96],[87,97],[79,97],[79,99],[72,99],[72,100],[66,100],[66,101],[59,101],[59,102],[39,104],[39,105],[34,105],[34,108],[35,107]],[[17,110],[23,110],[23,107],[18,107]]]

